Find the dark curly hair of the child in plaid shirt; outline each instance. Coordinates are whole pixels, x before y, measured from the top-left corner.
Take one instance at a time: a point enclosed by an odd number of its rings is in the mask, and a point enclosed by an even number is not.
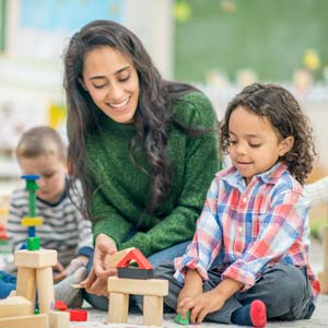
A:
[[[246,86],[227,105],[221,122],[220,141],[223,153],[229,152],[229,121],[236,107],[245,106],[253,113],[266,117],[284,139],[294,137],[293,148],[281,159],[290,173],[302,185],[313,168],[316,156],[313,129],[294,96],[274,84],[255,83]]]

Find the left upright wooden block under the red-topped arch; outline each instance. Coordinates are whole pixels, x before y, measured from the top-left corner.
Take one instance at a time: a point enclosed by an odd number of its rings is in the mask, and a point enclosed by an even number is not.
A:
[[[108,319],[110,323],[127,323],[129,313],[128,294],[110,293],[108,306]]]

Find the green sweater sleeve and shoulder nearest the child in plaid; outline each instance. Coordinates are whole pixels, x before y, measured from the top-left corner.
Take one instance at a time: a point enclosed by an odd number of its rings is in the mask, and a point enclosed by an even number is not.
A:
[[[138,232],[121,248],[134,246],[149,256],[192,238],[206,192],[219,168],[216,117],[211,103],[200,93],[190,95],[180,106],[179,113],[176,113],[180,124],[211,130],[201,137],[188,138],[181,192],[172,212],[161,221],[157,220],[159,223],[149,231]],[[189,115],[186,115],[187,106],[190,109]]]

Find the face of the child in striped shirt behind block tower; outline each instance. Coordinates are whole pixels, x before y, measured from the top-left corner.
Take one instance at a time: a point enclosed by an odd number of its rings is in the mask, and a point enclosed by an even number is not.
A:
[[[40,155],[37,157],[21,157],[20,165],[23,174],[37,174],[39,190],[36,196],[49,203],[56,203],[66,187],[67,165],[58,155]]]

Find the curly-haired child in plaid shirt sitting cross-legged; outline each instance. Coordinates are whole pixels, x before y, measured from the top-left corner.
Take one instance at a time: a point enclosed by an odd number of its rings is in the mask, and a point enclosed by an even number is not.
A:
[[[169,280],[166,306],[197,324],[263,327],[312,316],[319,283],[302,187],[315,155],[311,132],[278,85],[249,85],[229,104],[221,145],[232,166],[213,179],[185,255],[155,271]]]

